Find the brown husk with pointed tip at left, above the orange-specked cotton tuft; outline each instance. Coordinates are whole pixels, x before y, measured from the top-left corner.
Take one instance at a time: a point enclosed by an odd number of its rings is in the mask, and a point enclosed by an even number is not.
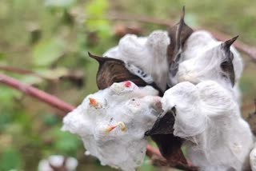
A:
[[[115,58],[98,57],[94,54],[90,54],[90,52],[88,52],[88,54],[90,58],[94,58],[99,63],[96,76],[98,89],[106,89],[114,82],[125,82],[129,80],[138,86],[151,85],[154,89],[158,89],[159,93],[162,94],[162,91],[154,84],[154,82],[152,84],[147,84],[142,78],[131,74],[130,71],[126,69],[125,62]]]

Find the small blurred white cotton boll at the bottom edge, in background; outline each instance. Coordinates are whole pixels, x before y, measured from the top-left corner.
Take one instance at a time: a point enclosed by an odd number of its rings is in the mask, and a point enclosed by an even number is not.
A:
[[[39,162],[38,171],[54,171],[54,168],[65,168],[66,171],[75,171],[77,166],[78,161],[74,157],[65,158],[61,155],[53,155]]]

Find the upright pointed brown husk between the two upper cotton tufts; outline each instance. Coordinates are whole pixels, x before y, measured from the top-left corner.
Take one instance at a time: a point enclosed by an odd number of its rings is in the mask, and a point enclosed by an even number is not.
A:
[[[182,16],[180,21],[173,27],[168,29],[168,34],[170,37],[170,45],[167,47],[167,55],[169,64],[173,63],[175,57],[177,58],[178,54],[181,53],[182,46],[186,42],[186,39],[194,32],[187,26],[184,22],[185,17],[185,6],[182,8]]]

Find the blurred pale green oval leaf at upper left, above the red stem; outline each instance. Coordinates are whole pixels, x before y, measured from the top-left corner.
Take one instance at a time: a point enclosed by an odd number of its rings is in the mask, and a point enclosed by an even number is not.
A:
[[[64,54],[66,43],[63,40],[52,38],[42,40],[32,51],[33,64],[35,66],[50,66]]]

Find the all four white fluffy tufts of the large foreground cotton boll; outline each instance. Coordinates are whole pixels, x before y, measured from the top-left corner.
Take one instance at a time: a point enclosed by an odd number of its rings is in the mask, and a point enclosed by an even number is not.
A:
[[[244,169],[253,137],[239,109],[242,58],[232,46],[238,37],[219,42],[206,31],[189,30],[184,41],[179,38],[184,35],[182,22],[176,39],[162,30],[148,37],[127,34],[103,54],[124,62],[130,74],[147,84],[154,82],[163,97],[149,85],[113,83],[88,95],[64,118],[62,129],[82,137],[85,148],[102,165],[122,170],[141,165],[144,133],[159,128],[159,121],[171,112],[173,128],[161,126],[186,140],[188,157],[199,169]],[[173,44],[178,50],[174,48],[171,63],[168,48]]]

